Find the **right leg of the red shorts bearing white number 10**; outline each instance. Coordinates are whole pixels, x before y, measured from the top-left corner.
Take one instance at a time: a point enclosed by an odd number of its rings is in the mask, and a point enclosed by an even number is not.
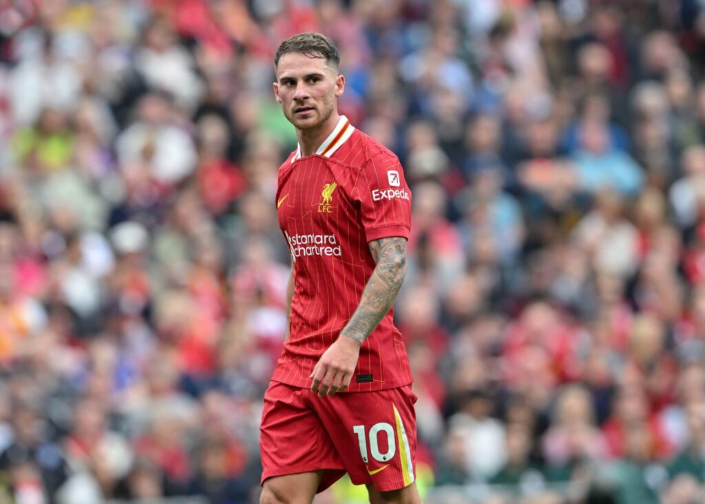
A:
[[[386,492],[415,481],[416,396],[410,386],[332,398],[311,394],[309,402],[354,484]]]

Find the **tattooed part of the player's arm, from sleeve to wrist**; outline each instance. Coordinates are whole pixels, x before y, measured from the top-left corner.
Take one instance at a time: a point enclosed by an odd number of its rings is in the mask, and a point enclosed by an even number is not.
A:
[[[377,265],[362,291],[360,305],[341,332],[363,343],[389,312],[406,275],[406,239],[381,238],[369,242]]]

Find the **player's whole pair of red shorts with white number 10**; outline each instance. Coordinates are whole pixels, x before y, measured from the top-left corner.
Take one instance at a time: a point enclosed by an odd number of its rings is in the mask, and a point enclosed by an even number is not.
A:
[[[347,472],[356,485],[386,492],[415,480],[417,397],[411,386],[319,397],[272,381],[264,393],[262,483],[324,469],[318,491]]]

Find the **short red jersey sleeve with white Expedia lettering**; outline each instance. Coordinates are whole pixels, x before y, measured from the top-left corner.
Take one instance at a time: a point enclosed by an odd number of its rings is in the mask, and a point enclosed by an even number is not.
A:
[[[409,238],[411,191],[397,156],[381,152],[370,157],[358,179],[362,224],[367,242]]]

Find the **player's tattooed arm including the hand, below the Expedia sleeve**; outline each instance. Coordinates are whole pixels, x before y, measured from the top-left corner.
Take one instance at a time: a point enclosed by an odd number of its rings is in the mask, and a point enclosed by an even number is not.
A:
[[[379,325],[396,300],[406,275],[406,238],[380,238],[369,242],[377,263],[362,291],[360,305],[338,339],[321,355],[309,378],[311,390],[333,395],[350,385],[360,346]]]

